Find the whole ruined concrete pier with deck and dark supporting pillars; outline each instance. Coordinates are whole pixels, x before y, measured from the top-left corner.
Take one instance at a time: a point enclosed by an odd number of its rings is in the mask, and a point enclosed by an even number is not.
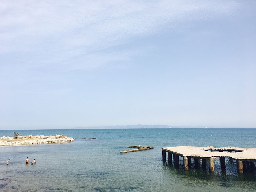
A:
[[[183,157],[184,170],[189,170],[191,167],[191,159],[194,159],[195,167],[200,166],[200,159],[202,159],[202,168],[207,167],[207,160],[209,164],[209,172],[214,172],[214,159],[220,158],[221,168],[226,168],[225,157],[234,159],[237,162],[238,174],[243,174],[247,168],[254,171],[256,161],[256,148],[238,148],[238,147],[163,147],[162,157],[166,161],[166,152],[168,153],[168,163],[172,164],[172,154],[174,165],[179,167],[179,157]]]

